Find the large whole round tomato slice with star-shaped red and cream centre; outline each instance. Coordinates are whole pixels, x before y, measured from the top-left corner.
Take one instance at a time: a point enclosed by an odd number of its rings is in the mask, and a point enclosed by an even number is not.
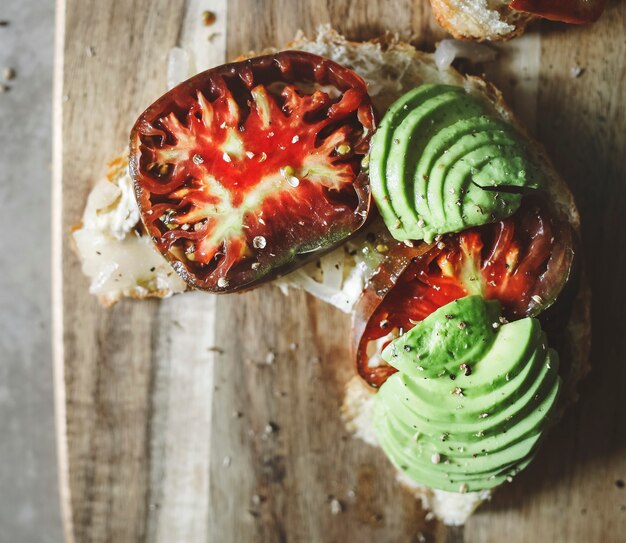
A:
[[[373,130],[364,81],[326,58],[287,51],[208,70],[133,128],[142,220],[192,287],[250,288],[363,225]]]

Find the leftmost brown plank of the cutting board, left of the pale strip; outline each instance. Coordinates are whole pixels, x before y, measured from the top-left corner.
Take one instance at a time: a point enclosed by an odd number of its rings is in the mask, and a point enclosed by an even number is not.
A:
[[[153,353],[157,302],[103,311],[67,233],[129,125],[163,90],[182,1],[67,0],[63,42],[60,166],[63,344],[70,540],[143,541],[147,534]],[[158,36],[158,39],[155,37]],[[59,104],[57,104],[59,107]],[[58,210],[57,210],[58,213]],[[59,337],[61,335],[61,337]],[[57,363],[60,361],[57,360]],[[66,525],[70,519],[65,519]]]

